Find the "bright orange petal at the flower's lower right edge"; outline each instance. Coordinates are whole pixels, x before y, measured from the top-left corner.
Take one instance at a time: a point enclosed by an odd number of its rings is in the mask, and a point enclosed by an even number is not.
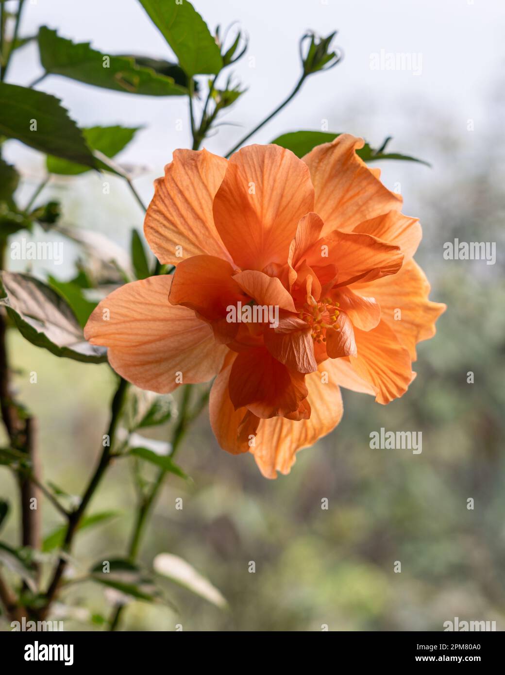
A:
[[[367,332],[356,328],[354,339],[358,355],[350,356],[350,363],[354,371],[372,385],[375,400],[386,404],[402,396],[414,374],[408,351],[388,324],[380,321]]]

